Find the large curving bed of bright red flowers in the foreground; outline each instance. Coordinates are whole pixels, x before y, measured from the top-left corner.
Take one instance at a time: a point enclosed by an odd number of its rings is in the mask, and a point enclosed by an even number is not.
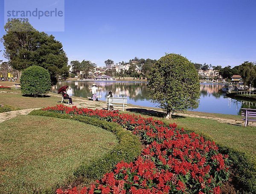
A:
[[[91,110],[57,105],[43,110],[70,115],[95,116],[133,131],[145,148],[136,161],[119,162],[113,172],[81,191],[58,189],[58,194],[219,194],[227,180],[227,156],[218,152],[214,142],[195,133],[165,125],[153,118],[143,118],[118,111]]]

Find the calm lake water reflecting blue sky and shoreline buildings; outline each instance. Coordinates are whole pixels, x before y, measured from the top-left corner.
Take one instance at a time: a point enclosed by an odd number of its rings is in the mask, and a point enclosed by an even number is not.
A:
[[[158,104],[152,103],[147,91],[146,82],[136,81],[59,81],[57,85],[52,87],[52,92],[57,93],[58,88],[69,85],[67,93],[70,96],[87,98],[91,97],[89,87],[93,84],[98,85],[98,95],[102,95],[99,100],[105,101],[108,92],[112,91],[113,96],[127,97],[129,104],[135,104],[145,107],[157,107]],[[239,101],[227,98],[225,93],[220,93],[222,84],[201,84],[200,104],[193,111],[206,113],[222,113],[222,114],[241,114],[241,108],[255,108],[256,102]]]

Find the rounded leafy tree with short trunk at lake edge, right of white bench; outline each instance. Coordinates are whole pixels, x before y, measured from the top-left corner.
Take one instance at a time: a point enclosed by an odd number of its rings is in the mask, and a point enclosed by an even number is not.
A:
[[[160,58],[148,77],[152,101],[166,111],[169,118],[175,110],[197,108],[200,96],[198,73],[194,65],[177,54]]]

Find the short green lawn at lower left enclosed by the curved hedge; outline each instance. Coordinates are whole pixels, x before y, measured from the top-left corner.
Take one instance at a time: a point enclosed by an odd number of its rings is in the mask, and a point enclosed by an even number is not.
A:
[[[64,184],[81,163],[107,153],[117,139],[69,119],[17,116],[0,123],[0,191],[33,193]]]

